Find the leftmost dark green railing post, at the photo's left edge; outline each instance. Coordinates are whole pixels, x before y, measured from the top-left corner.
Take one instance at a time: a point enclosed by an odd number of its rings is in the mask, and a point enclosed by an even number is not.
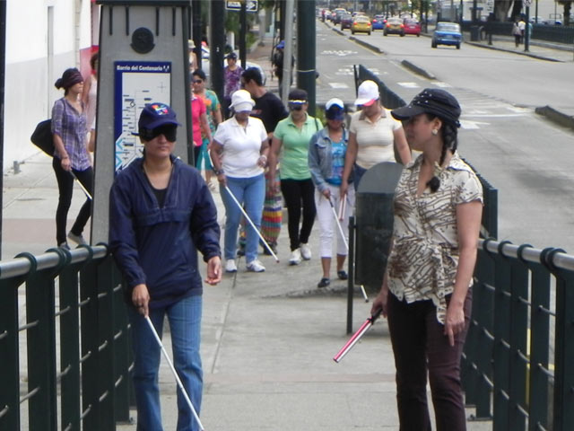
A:
[[[0,430],[20,429],[18,286],[24,278],[0,281]]]

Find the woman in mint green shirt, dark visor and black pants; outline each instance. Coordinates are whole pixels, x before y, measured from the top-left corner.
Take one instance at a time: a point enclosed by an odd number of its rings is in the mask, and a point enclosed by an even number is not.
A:
[[[269,153],[269,181],[272,184],[277,163],[281,163],[281,191],[289,217],[290,265],[299,265],[301,258],[311,259],[309,236],[316,215],[315,187],[309,172],[309,141],[323,125],[307,113],[307,97],[307,92],[299,88],[289,92],[290,114],[277,124]]]

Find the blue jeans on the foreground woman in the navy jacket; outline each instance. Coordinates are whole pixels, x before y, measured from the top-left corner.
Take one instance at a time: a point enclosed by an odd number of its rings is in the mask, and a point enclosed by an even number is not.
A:
[[[162,431],[158,371],[161,347],[143,316],[128,306],[134,348],[134,388],[137,431]],[[173,365],[199,415],[204,377],[199,355],[202,296],[182,299],[167,308],[150,309],[150,319],[161,338],[163,318],[170,321]],[[177,384],[173,377],[173,384]],[[178,388],[178,431],[198,431],[196,419]]]

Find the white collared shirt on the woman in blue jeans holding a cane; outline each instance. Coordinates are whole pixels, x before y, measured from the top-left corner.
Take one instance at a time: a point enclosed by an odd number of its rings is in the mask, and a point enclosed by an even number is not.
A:
[[[219,125],[213,140],[223,147],[222,167],[226,176],[251,178],[263,173],[257,160],[261,155],[261,143],[267,140],[267,132],[260,119],[249,117],[244,128],[231,117]]]

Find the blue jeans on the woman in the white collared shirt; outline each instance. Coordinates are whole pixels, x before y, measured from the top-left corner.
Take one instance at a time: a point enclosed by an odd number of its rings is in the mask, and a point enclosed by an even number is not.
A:
[[[265,175],[257,175],[250,178],[227,177],[227,187],[233,193],[240,205],[245,207],[245,212],[257,226],[261,229],[261,215],[263,214],[263,202],[265,200]],[[237,249],[237,232],[239,221],[241,220],[241,210],[230,197],[229,192],[220,187],[223,205],[225,206],[225,238],[223,253],[225,259],[235,259]],[[245,244],[245,258],[247,262],[257,259],[257,244],[259,235],[251,224],[246,221],[247,242]]]

